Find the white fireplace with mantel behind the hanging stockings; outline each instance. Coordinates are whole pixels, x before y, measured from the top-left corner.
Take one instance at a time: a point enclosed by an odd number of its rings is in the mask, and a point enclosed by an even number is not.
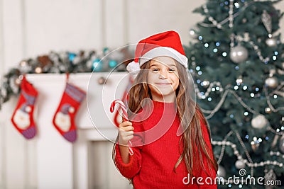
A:
[[[109,105],[123,96],[129,82],[126,72],[114,72],[110,76],[109,73],[70,74],[70,83],[87,91],[86,101],[76,116],[74,144],[67,142],[52,124],[65,88],[65,74],[28,74],[27,79],[39,92],[34,113],[38,133],[33,139],[36,188],[131,188],[114,166],[113,143],[109,142],[117,134]],[[106,84],[102,84],[103,79],[107,79]],[[99,131],[107,133],[107,138]]]

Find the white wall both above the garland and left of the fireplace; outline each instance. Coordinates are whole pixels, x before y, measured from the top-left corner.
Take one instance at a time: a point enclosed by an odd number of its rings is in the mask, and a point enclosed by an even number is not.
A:
[[[202,20],[192,10],[204,2],[0,0],[0,76],[21,59],[50,50],[116,48],[164,30],[177,30],[187,44],[188,30]],[[11,125],[14,105],[16,98],[0,112],[0,188],[36,188],[35,144]]]

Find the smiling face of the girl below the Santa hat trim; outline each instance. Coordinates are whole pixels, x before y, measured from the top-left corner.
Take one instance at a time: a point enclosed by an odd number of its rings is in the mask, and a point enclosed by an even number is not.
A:
[[[171,57],[151,59],[148,72],[148,86],[153,101],[174,102],[175,90],[179,86],[178,68]]]

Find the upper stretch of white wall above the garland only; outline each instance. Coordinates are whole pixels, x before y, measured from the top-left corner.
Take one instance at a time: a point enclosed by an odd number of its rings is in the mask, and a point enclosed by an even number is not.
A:
[[[1,0],[0,74],[50,50],[121,47],[163,30],[178,30],[187,43],[190,26],[201,18],[192,10],[202,2]]]

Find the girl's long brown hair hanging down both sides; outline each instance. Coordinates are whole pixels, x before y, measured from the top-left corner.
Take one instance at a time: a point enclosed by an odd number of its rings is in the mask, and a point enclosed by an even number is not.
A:
[[[136,76],[133,87],[129,91],[128,106],[130,118],[131,115],[138,113],[141,109],[141,102],[143,99],[151,98],[151,91],[147,84],[149,66],[150,61],[143,64],[141,71],[139,71]],[[206,164],[208,164],[210,168],[214,168],[214,171],[212,170],[210,171],[211,173],[207,173],[209,176],[212,176],[217,172],[218,165],[210,147],[204,141],[200,121],[207,125],[207,132],[211,139],[208,123],[199,106],[192,100],[192,98],[188,98],[188,95],[186,94],[188,91],[192,91],[190,88],[190,81],[187,76],[187,70],[178,62],[176,62],[176,66],[178,68],[178,77],[180,79],[180,84],[175,91],[176,103],[178,115],[182,128],[184,128],[184,132],[182,133],[182,137],[180,137],[180,143],[183,143],[181,144],[183,149],[180,151],[180,158],[173,169],[175,171],[178,165],[184,160],[190,176],[193,175],[192,171],[194,169],[197,169],[197,171],[206,170],[204,168],[204,159],[202,159],[203,154],[206,158]]]

